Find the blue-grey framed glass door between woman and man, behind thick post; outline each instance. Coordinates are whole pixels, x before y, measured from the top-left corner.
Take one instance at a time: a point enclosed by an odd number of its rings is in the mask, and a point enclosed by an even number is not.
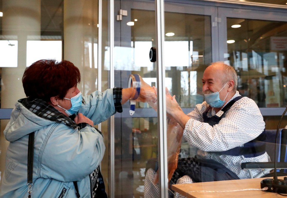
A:
[[[201,77],[215,58],[216,9],[178,1],[165,2],[164,9],[165,84],[189,111],[202,102]],[[115,15],[124,12],[127,16],[115,20],[115,86],[126,88],[130,74],[139,74],[147,84],[156,86],[156,63],[149,60],[157,38],[155,2],[116,1]],[[123,113],[115,115],[115,197],[140,198],[144,197],[147,163],[158,157],[158,118],[147,103],[137,103],[132,116],[129,104],[123,107]],[[182,157],[194,156],[193,148],[182,147]]]

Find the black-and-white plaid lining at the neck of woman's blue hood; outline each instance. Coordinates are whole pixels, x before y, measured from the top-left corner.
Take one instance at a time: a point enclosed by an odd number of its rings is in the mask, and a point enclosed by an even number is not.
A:
[[[23,98],[19,99],[18,102],[40,118],[63,123],[66,126],[74,129],[78,128],[78,125],[68,116],[65,116],[63,113],[59,112],[57,109],[41,99],[32,100],[30,98]]]

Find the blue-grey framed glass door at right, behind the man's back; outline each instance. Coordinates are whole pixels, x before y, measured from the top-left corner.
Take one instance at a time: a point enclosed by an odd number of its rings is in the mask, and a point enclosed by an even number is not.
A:
[[[237,71],[237,89],[257,103],[266,129],[275,129],[287,103],[286,12],[218,8],[218,15],[220,58]]]

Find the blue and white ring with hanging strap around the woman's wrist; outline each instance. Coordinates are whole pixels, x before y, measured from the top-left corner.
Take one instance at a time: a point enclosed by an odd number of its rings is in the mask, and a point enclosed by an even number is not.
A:
[[[130,110],[129,114],[132,116],[135,113],[135,100],[138,98],[141,92],[141,80],[138,74],[129,75],[128,87],[132,88],[132,95],[129,99]]]

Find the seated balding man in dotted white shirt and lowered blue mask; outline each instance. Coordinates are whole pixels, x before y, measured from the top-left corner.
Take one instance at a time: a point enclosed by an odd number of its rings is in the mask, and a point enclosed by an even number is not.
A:
[[[178,108],[175,96],[166,97],[167,113],[184,129],[183,138],[190,146],[198,148],[196,158],[178,161],[170,184],[249,178],[242,162],[270,161],[260,143],[265,138],[262,114],[252,99],[236,91],[233,67],[212,63],[202,84],[205,101],[187,115]],[[259,170],[252,172],[256,175]],[[158,197],[158,184],[150,182],[154,173],[147,171],[145,197]]]

